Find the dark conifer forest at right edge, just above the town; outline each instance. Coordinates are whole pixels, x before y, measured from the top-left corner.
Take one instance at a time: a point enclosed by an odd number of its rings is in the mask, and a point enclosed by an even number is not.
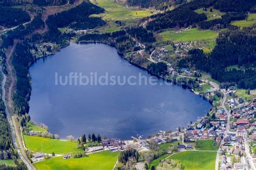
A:
[[[225,86],[237,85],[238,88],[256,89],[256,25],[242,30],[233,29],[220,33],[217,46],[210,55],[194,49],[189,57],[179,62],[180,67],[189,66],[210,72],[212,78],[226,83]],[[228,66],[237,68],[228,70]]]

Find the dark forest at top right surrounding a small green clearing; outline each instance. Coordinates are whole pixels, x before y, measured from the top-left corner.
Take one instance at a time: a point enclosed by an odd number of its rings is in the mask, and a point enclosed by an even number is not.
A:
[[[242,5],[245,4],[245,5]],[[243,0],[243,1],[224,1],[224,0],[205,0],[205,1],[191,1],[184,5],[180,5],[178,8],[167,11],[166,13],[159,13],[152,16],[153,21],[147,25],[148,30],[161,30],[166,28],[184,28],[187,26],[197,26],[201,29],[209,29],[217,26],[218,29],[226,28],[231,21],[238,19],[245,19],[246,12],[254,10],[256,1]],[[215,9],[219,9],[226,13],[220,19],[213,19],[206,21],[207,17],[204,13],[198,14],[194,12],[199,8],[209,8],[214,6]],[[228,7],[227,7],[228,6]]]

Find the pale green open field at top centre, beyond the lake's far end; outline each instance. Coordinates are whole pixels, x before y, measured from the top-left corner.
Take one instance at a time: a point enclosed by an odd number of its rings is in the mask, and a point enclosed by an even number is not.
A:
[[[122,26],[114,23],[115,21],[121,21],[127,26],[134,24],[140,18],[153,15],[153,11],[151,10],[132,10],[125,8],[125,6],[116,3],[114,0],[91,0],[91,2],[106,10],[105,13],[92,15],[102,17],[104,21],[107,22],[104,30],[99,30],[100,32],[113,32],[120,30]]]

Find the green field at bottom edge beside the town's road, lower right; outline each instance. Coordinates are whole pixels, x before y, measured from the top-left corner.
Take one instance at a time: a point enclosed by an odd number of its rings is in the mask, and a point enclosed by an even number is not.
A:
[[[215,169],[215,152],[185,151],[172,155],[168,159],[181,160],[185,170],[187,169]]]

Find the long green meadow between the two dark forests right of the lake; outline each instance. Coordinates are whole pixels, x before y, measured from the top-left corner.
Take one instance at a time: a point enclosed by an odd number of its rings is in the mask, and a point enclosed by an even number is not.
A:
[[[190,42],[196,40],[214,40],[218,32],[211,30],[198,30],[196,28],[175,33],[173,31],[164,31],[159,33],[161,41],[171,40],[173,42]]]

